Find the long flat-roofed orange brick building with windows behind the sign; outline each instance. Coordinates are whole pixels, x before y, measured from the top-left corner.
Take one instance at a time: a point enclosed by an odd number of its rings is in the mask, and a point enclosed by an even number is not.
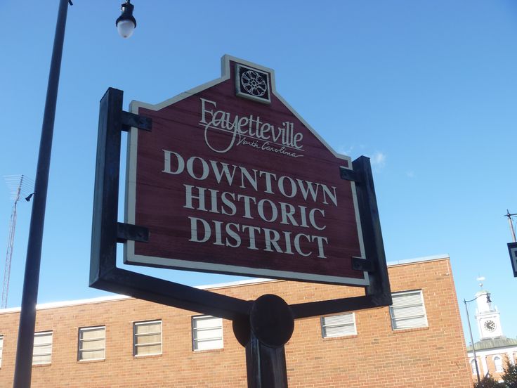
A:
[[[301,319],[287,343],[289,387],[471,387],[450,260],[388,266],[393,306]],[[362,289],[279,280],[209,287],[287,303]],[[0,311],[0,387],[13,382],[19,309]],[[32,387],[246,387],[230,321],[129,297],[38,307]]]

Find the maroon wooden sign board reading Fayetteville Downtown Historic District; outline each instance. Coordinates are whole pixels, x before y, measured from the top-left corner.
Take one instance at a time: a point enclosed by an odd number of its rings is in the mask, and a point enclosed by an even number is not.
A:
[[[365,286],[351,169],[275,91],[273,70],[223,57],[223,76],[158,105],[131,103],[129,264]]]

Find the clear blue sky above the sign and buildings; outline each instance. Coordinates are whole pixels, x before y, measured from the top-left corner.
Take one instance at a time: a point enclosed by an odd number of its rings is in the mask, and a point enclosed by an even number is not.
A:
[[[517,212],[515,1],[134,0],[127,40],[114,27],[121,2],[69,9],[39,302],[103,295],[88,271],[107,87],[124,90],[125,108],[159,103],[219,77],[228,53],[275,69],[277,91],[334,149],[372,158],[388,261],[450,254],[458,298],[485,276],[504,332],[517,337],[504,218]],[[35,178],[57,6],[0,2],[0,176]],[[0,183],[3,268],[12,202]],[[18,206],[8,306],[20,305],[30,207]]]

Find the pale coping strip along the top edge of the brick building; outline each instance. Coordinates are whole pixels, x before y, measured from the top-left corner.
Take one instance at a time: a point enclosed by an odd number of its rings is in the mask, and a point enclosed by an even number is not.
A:
[[[436,254],[433,256],[417,257],[414,259],[388,261],[387,264],[388,264],[388,266],[398,266],[398,265],[403,265],[403,264],[414,264],[414,263],[419,263],[422,261],[435,261],[435,260],[443,260],[443,259],[448,259],[448,258],[449,258],[448,254]],[[218,284],[211,284],[211,285],[198,285],[195,288],[199,288],[200,290],[214,290],[214,289],[225,288],[225,287],[239,287],[239,286],[244,286],[244,285],[253,285],[253,284],[257,284],[257,283],[268,283],[268,282],[278,282],[278,281],[283,281],[283,280],[254,278],[254,279],[236,280],[236,281],[227,282],[227,283],[218,283]],[[95,297],[95,298],[89,298],[89,299],[75,299],[75,300],[70,300],[70,301],[48,302],[48,303],[37,304],[36,309],[37,310],[56,309],[58,307],[77,306],[80,304],[114,302],[114,301],[122,300],[122,299],[131,299],[131,297],[127,297],[126,295],[106,295],[103,297]],[[8,309],[0,309],[0,314],[1,313],[17,313],[17,312],[20,312],[20,307],[11,307]]]

